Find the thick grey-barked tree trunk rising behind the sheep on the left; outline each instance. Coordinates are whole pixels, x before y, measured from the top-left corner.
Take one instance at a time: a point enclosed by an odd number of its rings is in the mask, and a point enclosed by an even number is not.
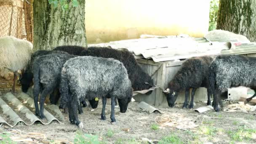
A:
[[[48,0],[35,0],[34,8],[34,48],[51,50],[60,45],[87,47],[85,38],[85,0],[78,0],[78,7],[72,2],[65,11],[61,6],[54,8]]]

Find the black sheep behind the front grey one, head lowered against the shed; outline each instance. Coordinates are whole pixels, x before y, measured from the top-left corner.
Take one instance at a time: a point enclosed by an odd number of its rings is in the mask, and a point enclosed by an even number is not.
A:
[[[134,58],[133,54],[128,50],[118,50],[108,47],[88,47],[84,49],[79,56],[97,56],[102,58],[113,58],[123,63],[125,66],[128,77],[131,80],[131,85],[134,91],[142,91],[152,87],[153,80],[144,72],[139,66],[138,62]],[[148,83],[148,84],[146,84]],[[151,94],[152,91],[147,92],[146,94]],[[99,101],[95,99],[89,100],[91,107],[96,108]]]

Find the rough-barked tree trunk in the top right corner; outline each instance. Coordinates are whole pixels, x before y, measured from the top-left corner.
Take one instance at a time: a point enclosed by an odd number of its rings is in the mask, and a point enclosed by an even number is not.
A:
[[[217,29],[256,41],[256,0],[220,0]]]

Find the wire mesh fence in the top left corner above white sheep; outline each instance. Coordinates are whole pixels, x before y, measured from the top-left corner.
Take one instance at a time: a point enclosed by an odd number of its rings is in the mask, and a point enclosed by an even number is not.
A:
[[[26,38],[24,10],[13,5],[0,4],[0,37]]]

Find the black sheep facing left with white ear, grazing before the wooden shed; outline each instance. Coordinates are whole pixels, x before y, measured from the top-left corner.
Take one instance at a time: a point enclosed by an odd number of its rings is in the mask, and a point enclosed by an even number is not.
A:
[[[179,91],[185,90],[183,108],[187,108],[190,88],[192,88],[192,93],[189,108],[191,109],[194,107],[194,96],[197,88],[205,87],[208,89],[209,87],[208,72],[212,61],[212,56],[200,56],[189,58],[183,62],[179,71],[168,83],[168,88],[164,91],[165,95],[167,95],[169,107],[173,107],[175,105]],[[212,92],[208,90],[207,105],[211,104],[211,95]]]

